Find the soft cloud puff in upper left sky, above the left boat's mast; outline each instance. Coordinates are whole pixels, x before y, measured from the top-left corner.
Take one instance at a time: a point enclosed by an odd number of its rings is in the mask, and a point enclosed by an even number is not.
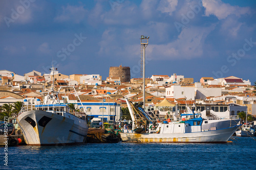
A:
[[[54,20],[58,22],[72,21],[74,23],[80,23],[86,14],[87,11],[83,6],[76,7],[67,5],[67,7],[62,7],[61,13],[57,15]]]

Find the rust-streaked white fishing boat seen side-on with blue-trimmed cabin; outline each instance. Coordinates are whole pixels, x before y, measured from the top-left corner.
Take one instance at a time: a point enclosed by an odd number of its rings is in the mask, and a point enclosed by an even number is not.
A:
[[[121,133],[122,142],[202,142],[225,143],[239,126],[219,129],[211,127],[202,129],[203,118],[185,120],[182,122],[154,123],[149,126],[148,119],[131,107],[126,99],[130,115],[133,119],[133,129]]]

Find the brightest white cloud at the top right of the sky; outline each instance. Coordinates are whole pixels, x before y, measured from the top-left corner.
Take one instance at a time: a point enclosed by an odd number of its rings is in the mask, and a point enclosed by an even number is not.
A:
[[[215,15],[218,19],[225,19],[231,14],[240,17],[243,14],[250,13],[250,8],[248,7],[231,6],[220,0],[202,0],[202,3],[205,8],[205,15]]]

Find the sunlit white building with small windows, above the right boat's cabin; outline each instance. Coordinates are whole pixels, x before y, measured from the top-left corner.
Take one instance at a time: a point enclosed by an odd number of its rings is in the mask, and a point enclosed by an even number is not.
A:
[[[186,98],[186,100],[195,100],[195,87],[185,87],[181,85],[172,85],[165,89],[166,98]]]

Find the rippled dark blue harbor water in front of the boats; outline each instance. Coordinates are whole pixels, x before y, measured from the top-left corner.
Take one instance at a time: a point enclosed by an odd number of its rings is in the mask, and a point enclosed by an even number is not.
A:
[[[120,142],[9,147],[8,166],[2,161],[1,169],[255,169],[255,137],[236,138],[225,144]],[[4,153],[4,148],[1,150]]]

